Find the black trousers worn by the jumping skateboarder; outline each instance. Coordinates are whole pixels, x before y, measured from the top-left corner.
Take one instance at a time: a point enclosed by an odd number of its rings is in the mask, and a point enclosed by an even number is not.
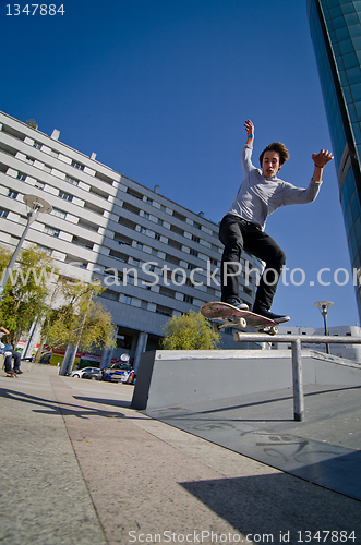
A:
[[[256,223],[227,214],[220,222],[219,240],[225,245],[221,258],[221,300],[239,300],[238,271],[242,250],[266,263],[257,288],[254,312],[268,311],[276,293],[277,283],[286,265],[285,252]]]

